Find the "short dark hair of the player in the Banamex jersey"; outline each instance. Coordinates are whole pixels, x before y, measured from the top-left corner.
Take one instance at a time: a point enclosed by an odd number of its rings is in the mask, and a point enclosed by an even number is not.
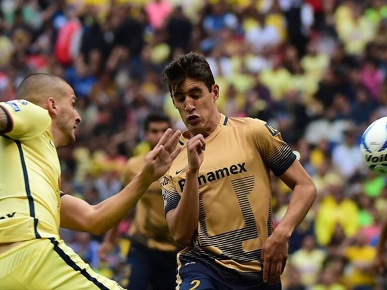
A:
[[[195,52],[189,52],[174,58],[164,68],[161,78],[168,85],[171,96],[172,89],[181,86],[188,78],[203,82],[210,92],[215,84],[210,64],[202,54]]]

